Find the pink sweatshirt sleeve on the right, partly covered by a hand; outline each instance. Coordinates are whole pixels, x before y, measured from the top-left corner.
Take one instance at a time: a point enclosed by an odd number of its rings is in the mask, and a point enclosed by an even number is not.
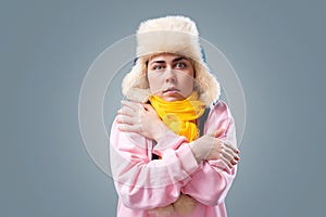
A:
[[[237,140],[234,118],[227,105],[222,101],[211,111],[205,123],[204,132],[216,131],[221,127],[223,127],[224,133],[220,139],[236,146]],[[229,169],[221,159],[204,161],[200,165],[200,169],[191,175],[191,180],[181,188],[181,192],[189,194],[204,205],[216,206],[224,202],[233,180],[236,177],[236,171],[237,166]]]

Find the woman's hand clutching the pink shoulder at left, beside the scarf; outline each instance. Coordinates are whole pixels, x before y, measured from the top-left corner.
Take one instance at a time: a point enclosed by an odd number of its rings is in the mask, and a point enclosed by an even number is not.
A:
[[[121,131],[137,132],[159,141],[168,130],[150,104],[130,101],[122,101],[122,104],[116,119]]]

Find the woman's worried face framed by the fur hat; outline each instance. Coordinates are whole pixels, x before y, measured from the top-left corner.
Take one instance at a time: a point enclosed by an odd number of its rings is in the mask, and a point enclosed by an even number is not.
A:
[[[159,54],[148,62],[148,81],[153,94],[167,102],[184,100],[193,91],[195,72],[189,59]]]

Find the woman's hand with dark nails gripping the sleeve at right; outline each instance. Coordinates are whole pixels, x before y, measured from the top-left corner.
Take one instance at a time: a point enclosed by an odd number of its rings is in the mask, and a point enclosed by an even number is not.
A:
[[[204,159],[222,159],[229,168],[233,168],[240,159],[238,149],[218,139],[224,129],[205,135],[190,143],[190,149],[198,162]]]

